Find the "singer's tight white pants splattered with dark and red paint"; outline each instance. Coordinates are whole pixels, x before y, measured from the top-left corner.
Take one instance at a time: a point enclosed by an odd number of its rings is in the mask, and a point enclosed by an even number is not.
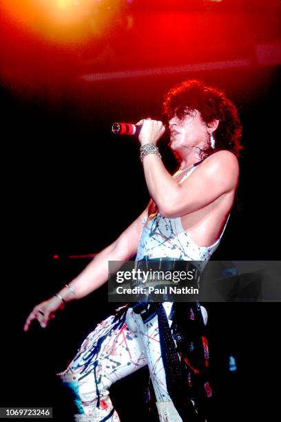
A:
[[[167,315],[171,305],[165,303]],[[98,324],[67,370],[59,374],[63,383],[74,392],[78,408],[75,420],[120,421],[108,390],[112,383],[145,365],[148,365],[154,386],[160,421],[182,421],[167,393],[158,317],[143,323],[132,308],[127,310],[125,323],[117,328],[114,316]]]

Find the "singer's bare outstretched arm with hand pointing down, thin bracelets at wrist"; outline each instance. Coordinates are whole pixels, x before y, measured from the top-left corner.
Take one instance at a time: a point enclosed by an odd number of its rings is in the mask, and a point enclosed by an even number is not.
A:
[[[108,279],[108,261],[127,261],[138,248],[138,240],[141,235],[142,221],[145,212],[131,224],[111,245],[103,249],[87,267],[69,283],[70,288],[64,287],[58,294],[65,302],[81,299],[87,296]],[[72,292],[73,290],[73,292]],[[63,308],[63,302],[57,296],[51,297],[34,307],[28,319],[25,321],[23,330],[28,331],[34,319],[39,321],[42,328],[48,325],[54,318],[57,310]]]

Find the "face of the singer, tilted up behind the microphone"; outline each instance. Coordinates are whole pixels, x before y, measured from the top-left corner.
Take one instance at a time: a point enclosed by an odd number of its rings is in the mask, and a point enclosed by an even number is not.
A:
[[[202,145],[209,139],[207,124],[198,110],[186,110],[180,117],[175,114],[169,120],[169,130],[172,150]]]

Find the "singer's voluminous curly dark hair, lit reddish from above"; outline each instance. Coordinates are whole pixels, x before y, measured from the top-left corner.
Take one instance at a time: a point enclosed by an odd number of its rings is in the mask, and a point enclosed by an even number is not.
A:
[[[218,150],[229,150],[240,156],[242,150],[241,136],[242,124],[238,117],[236,106],[227,99],[224,92],[205,86],[197,80],[187,80],[174,86],[164,97],[164,114],[171,119],[176,114],[180,119],[185,117],[185,112],[198,110],[202,120],[208,125],[218,119],[218,128],[214,132],[215,148],[211,145],[201,150],[202,159],[209,157]]]

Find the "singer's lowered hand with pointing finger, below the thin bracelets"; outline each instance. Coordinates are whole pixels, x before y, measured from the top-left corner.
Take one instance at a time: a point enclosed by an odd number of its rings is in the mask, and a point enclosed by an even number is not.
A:
[[[36,305],[25,321],[23,330],[28,331],[32,321],[37,319],[42,328],[47,327],[51,319],[54,319],[55,313],[59,309],[63,309],[64,305],[58,297],[51,297],[47,301],[43,301]]]

